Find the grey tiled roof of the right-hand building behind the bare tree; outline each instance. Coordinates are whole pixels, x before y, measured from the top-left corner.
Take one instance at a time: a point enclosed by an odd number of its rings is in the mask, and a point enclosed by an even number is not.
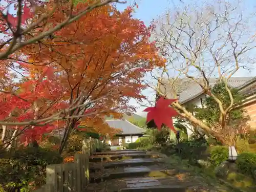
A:
[[[231,77],[228,80],[228,84],[232,88],[243,88],[246,86],[247,82],[256,80],[255,77]],[[202,81],[202,79],[197,79]],[[210,86],[213,87],[217,82],[216,78],[209,78]],[[174,98],[172,81],[168,79],[162,79],[159,83],[159,89],[162,93],[165,93],[168,98]],[[178,79],[175,81],[176,92],[179,94],[179,102],[185,103],[188,102],[201,94],[203,94],[202,88],[199,84],[188,78]]]

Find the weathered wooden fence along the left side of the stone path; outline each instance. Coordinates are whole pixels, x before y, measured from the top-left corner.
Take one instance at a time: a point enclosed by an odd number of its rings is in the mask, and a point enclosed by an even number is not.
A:
[[[34,192],[82,192],[89,184],[89,156],[100,146],[97,139],[83,140],[74,162],[47,166],[46,184]]]

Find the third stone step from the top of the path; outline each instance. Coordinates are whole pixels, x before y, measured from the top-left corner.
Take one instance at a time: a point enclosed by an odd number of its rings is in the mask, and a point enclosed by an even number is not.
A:
[[[100,165],[90,164],[90,172],[95,172],[95,170],[99,170],[102,167],[104,168],[117,168],[117,167],[126,167],[126,166],[143,166],[143,165],[154,165],[157,163],[162,163],[162,159],[160,158],[136,158],[136,159],[125,159],[122,161],[108,162]]]

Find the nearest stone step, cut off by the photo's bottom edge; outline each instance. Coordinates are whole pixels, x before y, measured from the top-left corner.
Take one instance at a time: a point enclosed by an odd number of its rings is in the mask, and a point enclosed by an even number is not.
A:
[[[122,188],[119,192],[187,192],[187,188],[183,186],[147,186],[147,187],[132,187]]]

